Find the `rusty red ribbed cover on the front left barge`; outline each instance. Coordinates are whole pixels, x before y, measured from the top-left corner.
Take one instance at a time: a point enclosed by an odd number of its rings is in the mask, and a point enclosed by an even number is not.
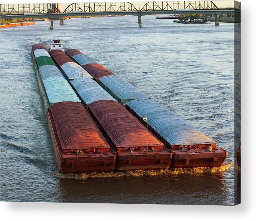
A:
[[[109,151],[109,144],[81,104],[68,101],[55,103],[51,112],[63,150],[97,148]]]

